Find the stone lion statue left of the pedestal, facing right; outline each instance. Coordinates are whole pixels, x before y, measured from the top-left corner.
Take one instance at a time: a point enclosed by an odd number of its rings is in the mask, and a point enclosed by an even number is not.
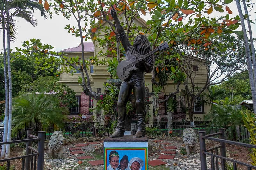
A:
[[[55,131],[50,137],[48,143],[49,158],[54,157],[54,152],[57,152],[58,158],[61,159],[62,147],[65,141],[65,137],[61,131]]]

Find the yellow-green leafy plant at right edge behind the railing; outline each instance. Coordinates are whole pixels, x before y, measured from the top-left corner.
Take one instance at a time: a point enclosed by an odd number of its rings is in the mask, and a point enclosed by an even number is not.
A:
[[[246,110],[244,113],[241,111],[241,115],[243,118],[244,126],[248,129],[250,133],[250,144],[256,144],[256,117],[254,113],[250,112],[249,110]],[[256,166],[256,149],[252,148],[252,153],[250,154],[252,159],[252,165]]]

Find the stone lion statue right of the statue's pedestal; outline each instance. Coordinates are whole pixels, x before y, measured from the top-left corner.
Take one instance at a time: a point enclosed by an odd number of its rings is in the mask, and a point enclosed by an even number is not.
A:
[[[191,128],[184,129],[182,139],[185,144],[187,155],[190,154],[190,151],[193,151],[193,153],[196,154],[197,137],[195,131]]]

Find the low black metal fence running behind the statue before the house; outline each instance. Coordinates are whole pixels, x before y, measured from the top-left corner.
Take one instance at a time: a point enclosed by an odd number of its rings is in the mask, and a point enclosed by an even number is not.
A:
[[[167,122],[161,122],[160,128],[156,122],[148,122],[146,124],[148,130],[151,130],[155,134],[170,134],[167,129]],[[172,122],[171,134],[173,136],[182,136],[183,130],[191,127],[190,122]],[[211,125],[211,122],[198,121],[194,122],[194,131],[198,134],[198,131],[204,130],[206,134],[218,132],[219,126]],[[53,134],[55,130],[60,130],[66,137],[95,137],[95,136],[108,136],[113,132],[114,129],[111,129],[111,124],[105,124],[104,122],[87,122],[87,123],[63,123],[62,126],[56,127],[54,124],[50,126],[43,127],[41,129],[45,131],[45,140],[48,140],[49,137]],[[131,124],[132,132],[137,130],[137,122],[132,122]],[[153,130],[153,131],[152,131]],[[12,140],[20,140],[26,138],[26,129],[20,129],[15,137]],[[249,142],[250,133],[243,126],[236,127],[237,141],[240,142]],[[1,131],[0,131],[0,141],[1,141]]]

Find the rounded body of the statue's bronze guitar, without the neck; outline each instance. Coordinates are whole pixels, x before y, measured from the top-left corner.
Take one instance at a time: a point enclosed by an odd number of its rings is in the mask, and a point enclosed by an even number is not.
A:
[[[134,58],[132,58],[131,60],[134,60]],[[131,77],[132,72],[137,70],[137,67],[133,65],[131,60],[121,61],[120,63],[118,63],[116,68],[116,74],[120,80],[127,80]]]

